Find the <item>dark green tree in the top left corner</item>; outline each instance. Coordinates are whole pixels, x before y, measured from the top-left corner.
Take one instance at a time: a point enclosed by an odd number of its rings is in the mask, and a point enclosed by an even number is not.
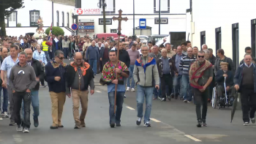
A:
[[[23,7],[23,0],[0,0],[0,36],[6,36],[4,16],[10,15],[21,7]],[[10,10],[7,10],[9,8]]]

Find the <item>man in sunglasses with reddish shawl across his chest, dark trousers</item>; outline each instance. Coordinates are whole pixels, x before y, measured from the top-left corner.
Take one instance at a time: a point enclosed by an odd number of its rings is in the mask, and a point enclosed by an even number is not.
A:
[[[191,64],[189,69],[189,83],[192,86],[195,97],[196,113],[197,113],[197,127],[207,126],[207,100],[209,93],[209,85],[213,79],[214,72],[212,64],[205,60],[205,52],[200,50],[197,53],[197,61]],[[201,102],[203,103],[203,110],[201,115]],[[203,122],[203,124],[202,124]]]

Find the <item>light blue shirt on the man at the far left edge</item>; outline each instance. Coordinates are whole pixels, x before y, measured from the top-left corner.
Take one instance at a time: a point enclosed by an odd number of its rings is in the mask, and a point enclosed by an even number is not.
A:
[[[10,77],[10,72],[13,66],[15,66],[15,64],[18,64],[19,59],[17,57],[16,61],[12,60],[11,56],[7,56],[6,58],[4,58],[3,63],[1,64],[1,70],[7,71],[7,84],[9,84],[9,77]]]

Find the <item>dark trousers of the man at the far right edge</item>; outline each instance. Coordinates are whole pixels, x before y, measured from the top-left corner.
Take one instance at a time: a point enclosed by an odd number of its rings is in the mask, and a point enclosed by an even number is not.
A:
[[[244,122],[249,122],[249,118],[255,118],[256,93],[253,88],[241,88],[241,105]]]

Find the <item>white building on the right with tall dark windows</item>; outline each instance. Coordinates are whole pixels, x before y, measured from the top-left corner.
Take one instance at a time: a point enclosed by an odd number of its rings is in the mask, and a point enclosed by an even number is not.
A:
[[[195,0],[187,10],[187,39],[192,46],[222,48],[235,66],[244,58],[244,48],[255,56],[256,1]],[[215,53],[214,53],[215,54]]]

